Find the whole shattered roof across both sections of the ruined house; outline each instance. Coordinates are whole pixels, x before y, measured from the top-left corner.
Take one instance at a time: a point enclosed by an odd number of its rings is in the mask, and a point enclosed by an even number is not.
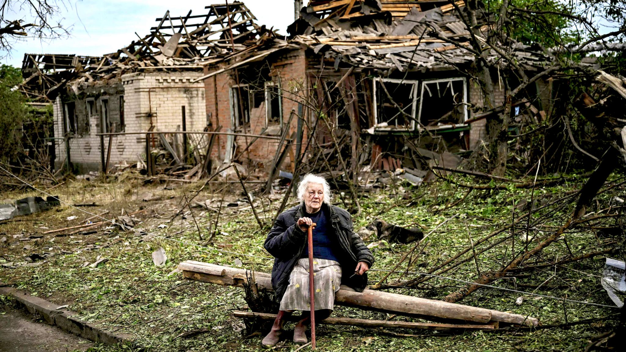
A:
[[[448,0],[310,1],[301,9],[300,18],[287,28],[292,34],[289,41],[255,24],[254,15],[240,2],[209,5],[203,14],[189,11],[186,16],[172,17],[167,11],[156,19],[158,24],[150,34],[140,37],[135,33],[138,39],[115,53],[100,57],[24,54],[22,90],[31,98],[48,100],[65,86],[78,93],[83,86],[133,71],[198,70],[204,65],[239,60],[213,75],[297,45],[334,59],[336,68],[453,68],[475,60],[467,19],[459,17],[463,8],[463,0],[454,4]],[[489,46],[483,38],[493,21],[483,17],[479,24],[484,35],[476,38],[484,44],[483,50]],[[550,61],[540,48],[521,43],[506,47],[506,56],[525,68]],[[487,59],[502,60],[493,51]]]

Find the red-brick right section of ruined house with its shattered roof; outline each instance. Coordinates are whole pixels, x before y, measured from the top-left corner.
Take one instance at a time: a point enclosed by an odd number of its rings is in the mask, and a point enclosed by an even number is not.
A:
[[[463,1],[456,5],[463,11]],[[486,110],[483,93],[459,70],[475,61],[465,49],[470,34],[449,1],[311,1],[299,10],[287,43],[257,43],[237,58],[205,66],[207,114],[215,125],[282,135],[296,151],[316,130],[321,149],[335,153],[332,133],[350,166],[369,162],[387,170],[401,167],[407,148],[458,152],[485,138],[485,120],[471,124]],[[488,19],[481,21],[486,31]],[[549,60],[523,44],[510,54],[528,71]],[[488,58],[499,59],[497,53]],[[501,82],[494,85],[500,105],[504,90]],[[548,104],[545,90],[538,82]],[[222,160],[245,150],[265,170],[293,170],[297,152],[283,165],[265,164],[280,160],[277,149],[272,140],[251,147],[247,138],[220,140]]]

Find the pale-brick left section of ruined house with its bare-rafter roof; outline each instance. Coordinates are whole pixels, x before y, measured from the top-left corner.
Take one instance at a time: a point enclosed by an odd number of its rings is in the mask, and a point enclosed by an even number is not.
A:
[[[168,11],[150,34],[101,57],[25,54],[21,90],[54,106],[57,167],[71,160],[86,172],[145,166],[147,154],[164,164],[201,157],[193,153],[205,148],[207,136],[140,132],[207,130],[205,89],[193,80],[205,62],[274,36],[254,19],[243,3],[213,4],[201,14]]]

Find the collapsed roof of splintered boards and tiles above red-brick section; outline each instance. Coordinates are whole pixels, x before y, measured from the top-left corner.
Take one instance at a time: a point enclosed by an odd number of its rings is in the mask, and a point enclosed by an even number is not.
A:
[[[288,30],[297,43],[335,58],[336,67],[339,60],[362,68],[400,71],[409,66],[451,68],[475,60],[471,34],[459,12],[464,13],[463,0],[454,4],[447,0],[311,1],[300,11],[302,18]],[[479,19],[483,38],[491,23],[489,18]],[[526,68],[549,60],[540,48],[521,43],[511,48],[507,54]],[[501,58],[492,53],[488,60]]]

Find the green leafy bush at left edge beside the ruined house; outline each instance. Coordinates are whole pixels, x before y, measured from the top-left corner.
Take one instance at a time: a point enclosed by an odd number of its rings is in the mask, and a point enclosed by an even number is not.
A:
[[[0,160],[18,153],[21,127],[28,116],[24,96],[13,87],[21,83],[22,73],[13,66],[0,66]]]

